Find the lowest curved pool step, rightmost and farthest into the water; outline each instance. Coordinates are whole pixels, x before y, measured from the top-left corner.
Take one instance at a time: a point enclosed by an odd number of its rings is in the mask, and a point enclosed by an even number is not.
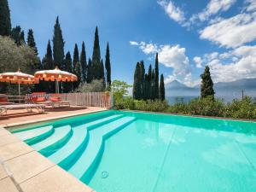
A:
[[[90,179],[90,173],[102,155],[102,146],[105,139],[111,137],[116,132],[131,124],[136,118],[123,117],[117,119],[107,125],[102,125],[99,129],[89,131],[90,140],[84,153],[80,156],[79,160],[68,170],[73,176],[87,182]]]

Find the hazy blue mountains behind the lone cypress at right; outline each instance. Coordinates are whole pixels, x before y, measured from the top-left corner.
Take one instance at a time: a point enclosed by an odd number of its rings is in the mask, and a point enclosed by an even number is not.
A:
[[[227,101],[241,97],[241,90],[244,95],[256,96],[256,79],[239,79],[233,82],[219,82],[213,86],[216,96],[223,97]],[[173,96],[200,96],[200,85],[188,87],[177,80],[166,84],[166,97]]]

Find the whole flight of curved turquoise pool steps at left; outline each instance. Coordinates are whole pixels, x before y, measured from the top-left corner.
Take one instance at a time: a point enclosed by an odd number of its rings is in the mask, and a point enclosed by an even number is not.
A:
[[[89,183],[102,159],[105,141],[135,120],[124,114],[111,114],[79,124],[48,125],[14,134],[73,176]]]

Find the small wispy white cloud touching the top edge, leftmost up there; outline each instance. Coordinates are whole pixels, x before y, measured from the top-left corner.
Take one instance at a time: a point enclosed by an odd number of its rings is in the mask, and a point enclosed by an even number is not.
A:
[[[159,0],[157,3],[165,9],[166,14],[169,15],[172,20],[175,20],[178,23],[182,23],[183,20],[185,20],[183,11],[180,8],[175,7],[172,1],[167,2],[166,0]]]

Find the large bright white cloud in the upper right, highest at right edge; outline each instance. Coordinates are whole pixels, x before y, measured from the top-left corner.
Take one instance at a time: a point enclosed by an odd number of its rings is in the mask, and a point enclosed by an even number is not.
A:
[[[200,38],[227,48],[236,48],[256,39],[256,12],[242,13],[201,30]]]

